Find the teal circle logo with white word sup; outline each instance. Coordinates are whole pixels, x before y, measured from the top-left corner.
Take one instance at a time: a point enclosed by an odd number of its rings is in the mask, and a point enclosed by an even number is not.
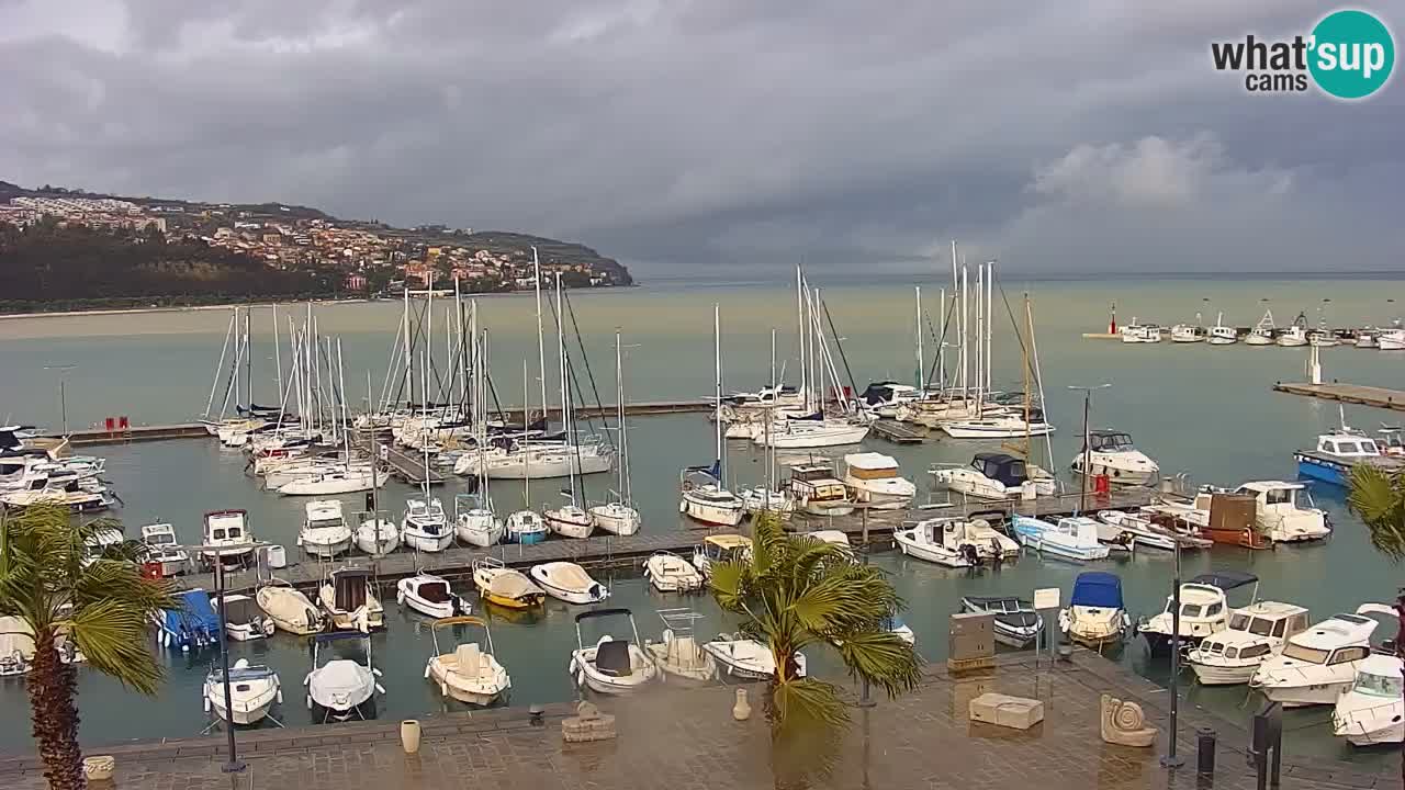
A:
[[[1308,70],[1336,98],[1381,90],[1395,66],[1395,39],[1385,22],[1357,10],[1332,11],[1312,28]]]

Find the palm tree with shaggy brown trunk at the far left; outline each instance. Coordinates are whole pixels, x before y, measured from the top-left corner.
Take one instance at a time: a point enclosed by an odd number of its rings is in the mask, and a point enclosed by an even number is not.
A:
[[[83,564],[84,541],[114,526],[107,519],[73,526],[67,509],[55,505],[0,517],[0,616],[17,617],[34,638],[30,715],[52,790],[86,784],[77,669],[65,642],[145,694],[162,680],[148,633],[153,614],[178,606],[170,585],[142,578],[124,547]]]

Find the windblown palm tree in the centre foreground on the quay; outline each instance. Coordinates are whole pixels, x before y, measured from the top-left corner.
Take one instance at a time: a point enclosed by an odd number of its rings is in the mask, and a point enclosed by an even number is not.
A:
[[[749,559],[714,568],[712,595],[739,614],[743,637],[770,647],[777,672],[766,686],[777,782],[801,766],[828,770],[849,724],[849,708],[833,683],[801,678],[795,652],[828,647],[851,678],[889,697],[912,690],[922,678],[912,645],[888,630],[902,599],[882,571],[860,565],[843,548],[787,536],[780,519],[756,522]]]

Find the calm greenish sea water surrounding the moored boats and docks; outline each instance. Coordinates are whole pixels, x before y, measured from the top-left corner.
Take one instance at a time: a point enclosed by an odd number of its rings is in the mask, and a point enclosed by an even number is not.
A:
[[[933,323],[937,322],[939,288],[940,283],[923,284],[924,306]],[[1083,340],[1079,335],[1104,330],[1114,301],[1123,322],[1135,315],[1144,320],[1173,323],[1194,320],[1200,312],[1204,323],[1210,325],[1215,312],[1224,311],[1227,322],[1249,326],[1269,306],[1280,323],[1291,320],[1298,311],[1307,311],[1309,319],[1316,320],[1321,308],[1333,325],[1383,325],[1398,318],[1398,304],[1392,299],[1402,287],[1399,281],[1384,280],[1006,283],[1005,294],[996,295],[998,312],[1006,313],[1007,298],[1009,313],[1023,320],[1021,294],[1026,290],[1033,299],[1048,412],[1059,427],[1052,440],[1055,467],[1065,468],[1078,448],[1082,395],[1069,387],[1110,382],[1109,389],[1094,396],[1096,425],[1131,432],[1138,446],[1151,453],[1165,472],[1186,471],[1196,482],[1231,485],[1245,479],[1291,477],[1291,450],[1311,443],[1319,430],[1338,422],[1333,405],[1270,391],[1274,381],[1302,377],[1304,350],[1169,343],[1123,346]],[[877,378],[912,378],[915,299],[910,285],[840,284],[825,288],[823,295],[844,339],[844,356],[860,388]],[[621,329],[627,344],[625,378],[631,399],[708,395],[712,388],[714,302],[722,309],[729,389],[754,388],[766,380],[773,328],[778,330],[780,357],[794,357],[795,297],[784,284],[677,283],[575,295],[576,319],[606,399],[613,399],[611,344],[615,328]],[[497,392],[504,402],[520,402],[521,360],[535,360],[537,356],[532,299],[485,298],[479,299],[478,309],[481,325],[492,333]],[[343,340],[348,391],[364,392],[367,371],[371,371],[374,396],[379,395],[399,311],[399,304],[315,309],[320,332]],[[444,313],[440,309],[436,312],[437,333],[441,333]],[[267,309],[256,311],[257,402],[277,402],[271,384],[274,350],[268,318]],[[67,416],[73,427],[101,422],[110,415],[126,415],[138,425],[190,420],[205,408],[228,320],[228,311],[0,320],[0,370],[4,371],[0,375],[0,419],[59,427],[59,377],[63,375]],[[995,335],[996,385],[1019,388],[1019,347],[1007,315],[998,320]],[[285,333],[282,340],[287,343]],[[934,343],[929,339],[926,346],[930,360]],[[282,354],[287,357],[287,347]],[[548,389],[554,389],[555,382],[551,358],[548,350]],[[1387,387],[1405,384],[1405,354],[1326,349],[1322,361],[1329,378]],[[45,370],[59,365],[76,367],[66,374]],[[785,378],[791,382],[797,380],[791,371]],[[537,401],[537,381],[532,380],[530,387],[532,401]],[[1370,409],[1349,409],[1346,416],[1363,429],[1374,429],[1383,419],[1391,419],[1385,412]],[[632,482],[645,530],[684,530],[677,514],[677,470],[711,460],[711,426],[701,415],[679,415],[631,419],[629,427]],[[923,474],[929,464],[964,462],[978,450],[975,444],[957,441],[917,447],[871,444],[895,455],[923,491],[929,486]],[[302,503],[259,491],[242,474],[243,457],[236,453],[221,451],[212,443],[198,440],[110,447],[100,453],[108,458],[107,477],[126,502],[118,516],[133,531],[139,524],[160,519],[174,523],[183,540],[194,541],[204,512],[246,507],[260,538],[289,547],[294,544]],[[732,443],[729,461],[731,475],[740,482],[760,481],[764,474],[760,454],[749,446]],[[603,496],[613,484],[606,478],[600,475],[589,481],[593,496]],[[554,484],[532,486],[532,505],[558,500],[558,488]],[[384,502],[398,510],[406,493],[406,488],[392,485]],[[500,507],[517,507],[523,491],[521,486],[495,484],[493,496]],[[1329,543],[1257,554],[1217,548],[1187,555],[1184,575],[1210,568],[1250,569],[1263,582],[1263,597],[1301,603],[1321,617],[1352,609],[1361,600],[1392,595],[1398,569],[1371,551],[1361,524],[1346,513],[1340,492],[1319,486],[1314,488],[1314,496],[1318,505],[1332,512],[1338,526]],[[355,509],[357,499],[347,498],[350,509]],[[874,561],[892,572],[909,602],[905,619],[917,634],[919,651],[929,659],[944,658],[946,616],[957,609],[961,595],[1028,595],[1035,586],[1052,585],[1066,590],[1082,569],[1026,558],[1000,572],[971,576],[896,555],[878,555]],[[1103,566],[1123,576],[1134,613],[1161,609],[1170,579],[1168,557],[1146,552]],[[641,635],[658,635],[660,624],[655,610],[666,606],[694,606],[707,614],[700,628],[702,634],[728,626],[705,597],[660,596],[635,576],[614,578],[611,583],[614,602],[635,611]],[[430,652],[424,621],[399,613],[393,604],[389,610],[389,630],[374,641],[377,663],[385,673],[388,690],[381,706],[382,715],[441,710],[444,703],[422,678]],[[554,603],[540,621],[493,621],[499,658],[513,675],[513,703],[572,696],[566,676],[568,654],[576,642],[570,614],[569,607]],[[586,634],[586,638],[594,637]],[[311,662],[305,641],[278,634],[267,642],[235,645],[233,651],[235,658],[249,656],[278,669],[287,689],[281,718],[288,724],[308,723],[301,689]],[[100,744],[200,731],[205,725],[200,686],[211,658],[163,655],[169,678],[156,704],[136,699],[94,672],[80,672],[84,741]],[[1165,668],[1148,666],[1135,644],[1120,658],[1148,676],[1165,680]],[[839,676],[830,658],[816,655],[813,661],[822,673]],[[1187,694],[1194,703],[1231,715],[1241,715],[1249,704],[1242,687],[1207,690],[1190,683]],[[145,714],[139,720],[131,717],[133,704],[143,706]],[[0,749],[24,748],[30,727],[21,682],[0,685]],[[1325,725],[1328,718],[1326,710],[1294,713],[1290,717],[1290,748],[1350,755],[1353,759],[1381,759],[1370,752],[1353,753],[1333,739]]]

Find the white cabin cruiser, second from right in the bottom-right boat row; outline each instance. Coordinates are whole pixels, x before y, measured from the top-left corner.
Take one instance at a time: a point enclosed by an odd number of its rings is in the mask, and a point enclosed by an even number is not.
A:
[[[1333,614],[1290,637],[1279,655],[1259,665],[1249,687],[1283,707],[1333,704],[1352,687],[1357,668],[1371,655],[1377,621],[1363,613],[1374,613],[1375,607],[1395,617],[1383,604],[1361,606],[1357,614]]]

